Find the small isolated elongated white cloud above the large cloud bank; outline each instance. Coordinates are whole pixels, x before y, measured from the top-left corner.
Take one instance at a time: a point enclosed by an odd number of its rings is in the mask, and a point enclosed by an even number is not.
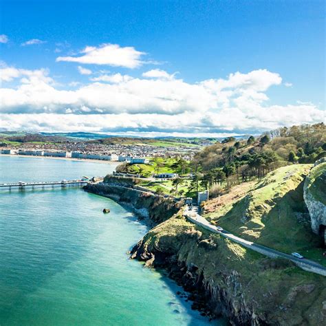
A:
[[[80,53],[83,55],[59,56],[56,61],[135,68],[142,65],[140,58],[144,55],[144,52],[139,52],[134,47],[120,47],[118,44],[102,44],[99,47],[87,46]]]

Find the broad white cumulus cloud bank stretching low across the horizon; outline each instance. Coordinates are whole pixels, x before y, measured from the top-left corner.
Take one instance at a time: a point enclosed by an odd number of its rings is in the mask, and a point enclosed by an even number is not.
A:
[[[6,81],[21,78],[17,87],[0,89],[3,129],[213,135],[324,118],[312,103],[268,105],[265,91],[281,85],[282,78],[265,69],[193,84],[111,74],[91,78],[88,85],[76,84],[74,90],[57,89],[45,69],[3,71]]]

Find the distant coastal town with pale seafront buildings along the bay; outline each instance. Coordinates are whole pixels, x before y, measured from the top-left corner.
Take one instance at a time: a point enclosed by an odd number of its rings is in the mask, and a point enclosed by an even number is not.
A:
[[[150,157],[182,157],[191,160],[202,146],[192,144],[166,143],[157,146],[151,143],[130,142],[129,144],[105,143],[85,140],[67,140],[61,142],[0,142],[2,155],[28,155],[44,157],[71,157],[74,159],[105,160],[148,164]]]

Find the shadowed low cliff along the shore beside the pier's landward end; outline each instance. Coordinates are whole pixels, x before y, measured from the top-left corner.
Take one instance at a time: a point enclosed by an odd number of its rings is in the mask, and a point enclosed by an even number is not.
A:
[[[175,202],[172,198],[138,191],[120,184],[120,182],[115,184],[88,184],[84,189],[89,193],[108,197],[129,206],[135,214],[143,219],[147,219],[151,225],[156,225],[169,219],[182,206],[181,202]]]

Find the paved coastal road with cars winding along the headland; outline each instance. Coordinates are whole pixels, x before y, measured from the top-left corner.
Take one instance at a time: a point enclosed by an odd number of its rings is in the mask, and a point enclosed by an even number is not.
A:
[[[217,233],[222,237],[225,237],[226,239],[230,239],[231,241],[239,243],[246,248],[250,248],[256,252],[265,254],[265,256],[271,258],[281,257],[281,258],[289,259],[290,261],[296,263],[296,265],[298,265],[298,267],[302,268],[303,270],[307,270],[308,272],[314,272],[316,274],[326,276],[326,268],[323,265],[320,265],[314,261],[310,261],[309,259],[298,259],[293,257],[291,254],[285,254],[284,252],[280,252],[278,250],[261,246],[252,241],[248,241],[240,237],[237,237],[236,235],[232,235],[232,233],[226,230],[223,231],[217,230],[216,226],[210,224],[206,219],[204,219],[204,217],[202,217],[197,213],[196,207],[193,207],[192,210],[188,210],[188,208],[186,208],[186,210],[184,210],[184,216],[188,220],[192,221],[194,224],[197,224],[198,226],[202,226],[202,228],[206,228],[206,230],[210,230],[211,232]]]

